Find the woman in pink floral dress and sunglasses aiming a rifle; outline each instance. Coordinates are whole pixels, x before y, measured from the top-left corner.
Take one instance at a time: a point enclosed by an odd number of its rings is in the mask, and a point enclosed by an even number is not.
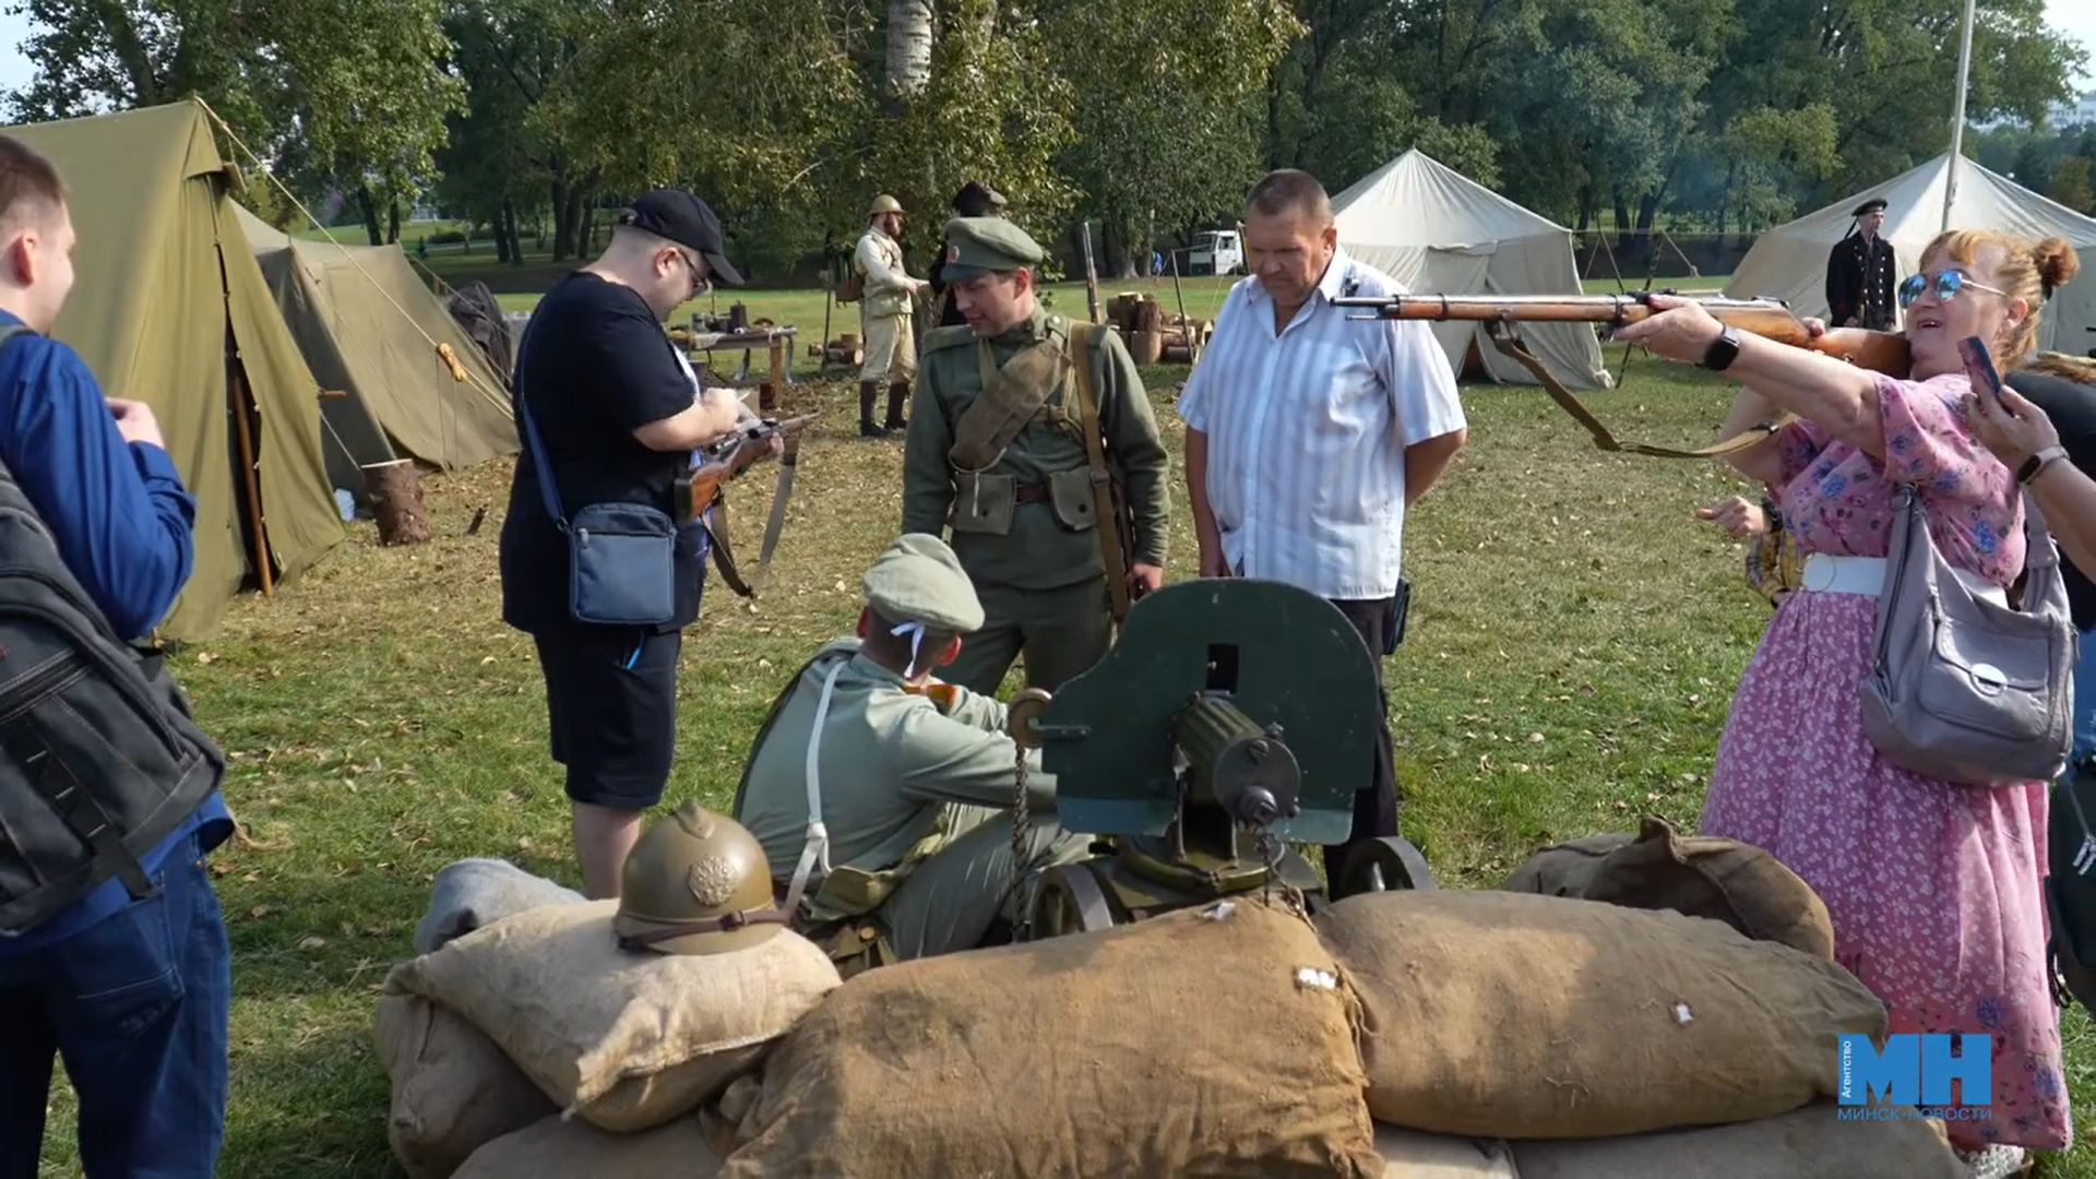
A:
[[[2006,587],[2023,571],[2023,497],[1964,422],[1958,340],[1989,340],[1995,363],[2014,367],[2031,352],[2042,296],[2075,266],[2058,239],[2033,248],[1958,231],[1933,241],[1901,287],[1912,380],[1754,336],[1721,340],[1723,327],[1683,300],[1654,300],[1671,310],[1620,336],[1740,380],[1727,436],[1782,411],[1798,417],[1729,462],[1777,497],[1809,562],[1884,558],[1893,485],[1909,483],[1943,558],[1974,587]],[[1989,1116],[1949,1120],[1949,1137],[1974,1173],[2014,1173],[2025,1148],[2071,1139],[2046,965],[2046,787],[1935,780],[1878,755],[1859,699],[1876,581],[1868,564],[1849,573],[1838,590],[1777,606],[1740,676],[1700,831],[1765,848],[1813,885],[1834,919],[1836,959],[1884,1001],[1893,1032],[1993,1036]]]

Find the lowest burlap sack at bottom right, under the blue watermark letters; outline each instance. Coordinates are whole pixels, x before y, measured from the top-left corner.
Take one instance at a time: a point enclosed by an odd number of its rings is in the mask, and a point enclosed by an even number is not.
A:
[[[1518,1141],[1520,1179],[1970,1179],[1922,1120],[1851,1120],[1838,1106],[1654,1135]]]

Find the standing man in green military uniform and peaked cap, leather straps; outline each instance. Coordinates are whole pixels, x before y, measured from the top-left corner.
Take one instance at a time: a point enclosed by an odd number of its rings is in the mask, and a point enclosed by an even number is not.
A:
[[[1042,248],[998,216],[945,224],[941,277],[966,327],[924,336],[903,445],[903,531],[952,527],[983,602],[952,682],[994,694],[1025,652],[1054,690],[1163,583],[1170,459],[1128,346],[1048,315]]]

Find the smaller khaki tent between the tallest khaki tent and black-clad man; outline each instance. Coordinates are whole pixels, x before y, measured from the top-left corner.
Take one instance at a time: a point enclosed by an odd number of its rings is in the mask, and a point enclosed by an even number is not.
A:
[[[298,241],[245,208],[235,216],[312,376],[342,392],[321,403],[335,487],[363,491],[358,468],[402,457],[455,470],[516,453],[501,378],[400,245]]]

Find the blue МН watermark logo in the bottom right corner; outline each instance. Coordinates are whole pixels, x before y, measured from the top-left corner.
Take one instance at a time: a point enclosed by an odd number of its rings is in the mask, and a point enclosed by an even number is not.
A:
[[[1993,1116],[1993,1036],[1903,1032],[1886,1036],[1878,1051],[1870,1036],[1844,1034],[1836,1097],[1851,1106],[1842,1118],[1985,1122]]]

